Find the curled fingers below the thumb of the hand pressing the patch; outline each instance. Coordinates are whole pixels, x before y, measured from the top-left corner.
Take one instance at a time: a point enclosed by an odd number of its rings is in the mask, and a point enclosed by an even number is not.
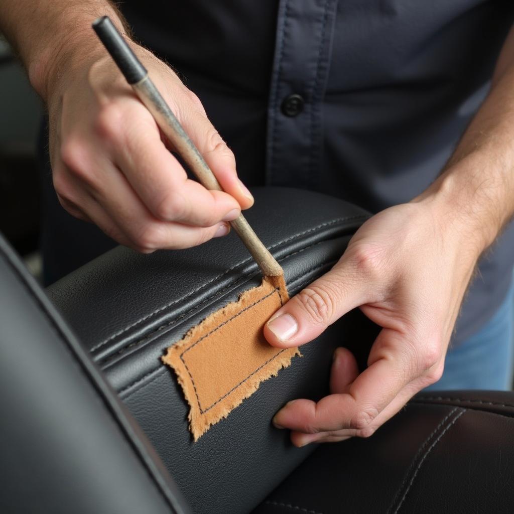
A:
[[[299,432],[292,436],[297,444],[318,440],[327,433],[330,437],[370,436],[412,395],[431,383],[435,378],[431,373],[442,373],[438,362],[427,373],[428,360],[413,352],[414,346],[401,340],[401,335],[383,329],[370,354],[369,367],[356,376],[355,359],[339,350],[332,369],[333,394],[317,403],[293,400],[274,416],[273,423]],[[303,437],[300,433],[321,435]]]

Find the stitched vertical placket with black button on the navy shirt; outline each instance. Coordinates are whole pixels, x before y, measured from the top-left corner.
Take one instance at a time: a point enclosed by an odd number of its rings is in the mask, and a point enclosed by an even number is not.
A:
[[[316,189],[337,0],[281,0],[268,104],[266,183]]]

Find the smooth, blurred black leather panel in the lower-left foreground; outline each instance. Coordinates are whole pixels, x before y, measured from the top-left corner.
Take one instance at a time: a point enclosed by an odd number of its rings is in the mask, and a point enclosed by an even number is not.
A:
[[[2,236],[0,409],[0,512],[189,512]]]

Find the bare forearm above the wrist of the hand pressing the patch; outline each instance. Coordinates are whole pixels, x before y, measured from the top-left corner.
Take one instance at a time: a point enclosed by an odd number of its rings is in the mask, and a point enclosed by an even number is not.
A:
[[[449,220],[471,229],[479,252],[514,215],[514,29],[488,97],[442,175],[417,199],[427,198],[446,206]]]

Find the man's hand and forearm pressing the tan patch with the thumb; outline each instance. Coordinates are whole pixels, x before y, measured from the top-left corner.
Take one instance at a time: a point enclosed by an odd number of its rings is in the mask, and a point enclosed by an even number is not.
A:
[[[313,340],[355,307],[382,327],[366,370],[339,348],[332,394],[276,414],[297,446],[369,436],[443,373],[476,261],[514,215],[513,90],[514,29],[444,173],[411,203],[366,222],[339,263],[268,321],[266,339],[279,347]]]

